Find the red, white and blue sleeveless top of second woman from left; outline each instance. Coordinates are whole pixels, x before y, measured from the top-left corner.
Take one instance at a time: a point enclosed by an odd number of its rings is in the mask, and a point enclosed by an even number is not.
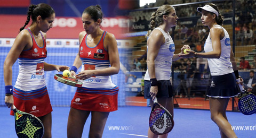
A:
[[[98,44],[94,47],[89,47],[86,43],[87,34],[84,36],[79,48],[80,58],[82,61],[82,70],[99,70],[110,66],[108,51],[104,48],[103,41],[106,36],[106,31],[103,31]],[[82,80],[83,87],[86,88],[114,88],[110,76],[92,76],[89,79]]]

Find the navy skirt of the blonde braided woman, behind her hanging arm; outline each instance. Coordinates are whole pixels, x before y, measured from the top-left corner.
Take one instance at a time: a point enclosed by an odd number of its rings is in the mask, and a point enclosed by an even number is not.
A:
[[[150,87],[151,83],[150,81],[144,81],[144,98],[145,99],[150,99]],[[157,98],[162,98],[162,97],[173,97],[173,89],[172,89],[172,84],[170,80],[162,80],[162,81],[157,81],[157,87],[158,87],[158,92],[156,94]]]

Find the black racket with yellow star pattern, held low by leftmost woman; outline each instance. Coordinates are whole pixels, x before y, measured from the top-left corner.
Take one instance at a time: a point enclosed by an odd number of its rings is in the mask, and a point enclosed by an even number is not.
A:
[[[19,138],[41,138],[44,135],[44,125],[39,118],[16,109],[13,105],[15,131]]]

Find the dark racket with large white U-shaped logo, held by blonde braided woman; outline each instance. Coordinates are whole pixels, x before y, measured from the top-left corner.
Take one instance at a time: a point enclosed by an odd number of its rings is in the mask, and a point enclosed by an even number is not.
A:
[[[154,106],[149,116],[149,128],[157,135],[169,133],[174,126],[172,115],[166,110],[157,99],[154,99]]]

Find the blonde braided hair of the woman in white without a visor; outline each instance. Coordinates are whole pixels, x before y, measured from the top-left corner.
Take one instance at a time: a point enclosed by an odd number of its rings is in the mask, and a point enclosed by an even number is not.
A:
[[[159,27],[159,25],[163,24],[163,15],[168,15],[171,13],[171,10],[175,10],[175,8],[171,5],[162,5],[157,8],[156,12],[151,14],[150,18],[150,30],[148,31],[146,37],[148,37],[152,30]]]

